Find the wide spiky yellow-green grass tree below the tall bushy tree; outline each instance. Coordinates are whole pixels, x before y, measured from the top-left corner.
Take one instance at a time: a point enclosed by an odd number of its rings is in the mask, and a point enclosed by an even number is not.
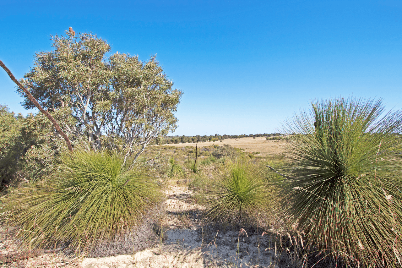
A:
[[[148,245],[161,194],[143,165],[114,153],[75,152],[57,178],[14,200],[18,237],[33,247],[90,256],[133,253]]]

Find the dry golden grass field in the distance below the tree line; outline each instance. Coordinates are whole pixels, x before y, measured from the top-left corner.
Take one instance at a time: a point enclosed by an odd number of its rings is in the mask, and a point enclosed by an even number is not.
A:
[[[255,139],[252,137],[244,137],[244,138],[232,138],[226,139],[222,142],[199,142],[198,147],[210,146],[210,145],[219,145],[222,146],[224,144],[229,144],[230,146],[236,148],[242,148],[246,152],[255,153],[259,152],[260,156],[273,156],[283,153],[283,148],[286,146],[286,141],[283,140],[267,140],[265,137],[256,137]],[[185,146],[194,146],[195,143],[178,143],[178,144],[164,144],[170,146],[177,147],[185,147]],[[164,146],[162,145],[162,146]]]

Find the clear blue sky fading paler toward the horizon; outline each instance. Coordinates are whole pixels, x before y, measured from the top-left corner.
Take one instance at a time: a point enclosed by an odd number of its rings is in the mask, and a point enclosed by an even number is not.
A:
[[[68,27],[151,54],[184,92],[174,135],[276,132],[316,98],[402,108],[402,1],[0,2],[0,59],[17,78]],[[26,114],[0,70],[0,103]]]

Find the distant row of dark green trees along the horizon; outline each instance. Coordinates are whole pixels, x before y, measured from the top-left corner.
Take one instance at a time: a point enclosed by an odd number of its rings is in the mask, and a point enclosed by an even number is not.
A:
[[[230,138],[244,138],[244,137],[275,137],[275,136],[283,136],[286,134],[281,133],[264,133],[264,134],[240,134],[240,135],[196,135],[196,136],[164,136],[162,140],[160,140],[160,144],[172,144],[172,143],[193,143],[193,142],[207,142],[207,141],[219,141]]]

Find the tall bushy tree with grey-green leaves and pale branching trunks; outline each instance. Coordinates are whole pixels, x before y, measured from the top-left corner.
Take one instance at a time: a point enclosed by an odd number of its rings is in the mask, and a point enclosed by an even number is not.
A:
[[[116,52],[92,33],[52,36],[53,50],[35,55],[34,67],[21,79],[33,97],[53,113],[76,143],[94,151],[121,150],[125,158],[176,128],[176,111],[183,94],[172,89],[153,56]],[[23,92],[17,89],[21,96]],[[33,108],[29,99],[23,105]]]

